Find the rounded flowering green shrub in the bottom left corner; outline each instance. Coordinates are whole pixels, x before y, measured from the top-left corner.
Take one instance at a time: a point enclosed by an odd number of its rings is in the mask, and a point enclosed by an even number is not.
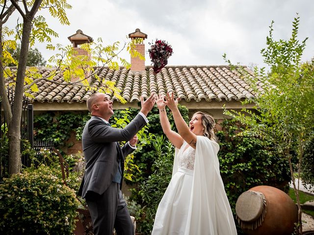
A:
[[[1,234],[73,234],[78,200],[56,170],[27,168],[0,184]]]

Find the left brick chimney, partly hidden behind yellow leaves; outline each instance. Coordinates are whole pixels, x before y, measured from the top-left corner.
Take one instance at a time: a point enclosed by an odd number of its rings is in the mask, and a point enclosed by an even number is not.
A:
[[[78,45],[93,42],[93,39],[90,36],[83,34],[83,31],[78,29],[77,32],[75,34],[69,36],[68,39],[72,43],[73,49],[78,52],[77,56],[87,55],[88,59],[91,58],[90,57],[91,55],[88,53],[88,51],[84,50],[81,47],[78,47]],[[87,76],[88,74],[85,74],[85,75]],[[71,77],[71,82],[75,82],[77,80],[78,80],[78,77]]]

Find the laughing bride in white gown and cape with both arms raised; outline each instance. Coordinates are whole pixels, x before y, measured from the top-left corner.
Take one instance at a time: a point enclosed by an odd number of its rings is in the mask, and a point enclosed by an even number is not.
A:
[[[159,203],[152,235],[235,235],[235,221],[219,173],[215,121],[197,112],[187,126],[178,101],[173,94],[156,101],[162,130],[176,153],[172,178]],[[170,128],[166,105],[179,134]]]

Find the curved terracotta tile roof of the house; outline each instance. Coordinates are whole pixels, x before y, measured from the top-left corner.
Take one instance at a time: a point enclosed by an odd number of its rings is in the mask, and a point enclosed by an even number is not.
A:
[[[253,74],[246,67],[244,69]],[[47,77],[52,69],[40,68],[38,72]],[[186,101],[239,101],[254,97],[250,85],[228,66],[168,66],[156,75],[151,66],[147,66],[143,73],[125,68],[118,71],[103,68],[97,71],[97,75],[101,81],[95,77],[92,79],[95,91],[102,88],[102,81],[113,81],[128,102],[140,101],[141,95],[148,97],[151,93],[166,92],[174,92]],[[79,85],[66,85],[61,74],[55,75],[52,80],[60,84],[45,80],[37,82],[38,91],[30,92],[33,96],[32,102],[81,103],[95,92]],[[257,85],[262,89],[261,83]]]

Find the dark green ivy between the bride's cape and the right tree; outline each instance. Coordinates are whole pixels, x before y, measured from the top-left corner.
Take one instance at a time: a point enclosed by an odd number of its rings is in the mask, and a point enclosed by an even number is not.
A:
[[[288,192],[290,171],[285,159],[270,141],[244,133],[232,120],[222,122],[217,132],[220,174],[233,211],[238,196],[255,186],[268,185]]]

